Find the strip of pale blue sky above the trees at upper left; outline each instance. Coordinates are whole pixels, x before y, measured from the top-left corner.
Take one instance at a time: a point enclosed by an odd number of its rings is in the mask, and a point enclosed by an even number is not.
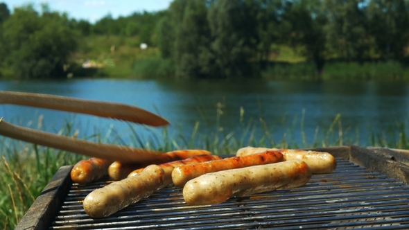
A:
[[[33,3],[40,10],[42,3],[47,3],[51,11],[67,12],[70,18],[85,19],[94,23],[110,14],[115,19],[128,16],[133,12],[154,12],[168,8],[172,0],[0,0],[6,3],[12,12],[13,8]]]

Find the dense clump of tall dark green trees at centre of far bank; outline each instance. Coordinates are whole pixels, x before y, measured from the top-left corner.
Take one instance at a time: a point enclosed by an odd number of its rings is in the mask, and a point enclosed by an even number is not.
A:
[[[257,26],[270,17],[257,15],[261,9],[254,1],[175,0],[159,24],[162,57],[173,58],[177,78],[254,76],[271,41],[263,29],[272,24]]]

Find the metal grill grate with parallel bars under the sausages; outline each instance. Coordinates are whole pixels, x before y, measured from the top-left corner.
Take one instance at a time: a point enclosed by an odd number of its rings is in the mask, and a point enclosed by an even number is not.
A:
[[[115,213],[92,219],[82,200],[95,188],[73,184],[50,229],[409,229],[409,186],[348,160],[290,191],[274,191],[207,206],[184,204],[170,186]]]

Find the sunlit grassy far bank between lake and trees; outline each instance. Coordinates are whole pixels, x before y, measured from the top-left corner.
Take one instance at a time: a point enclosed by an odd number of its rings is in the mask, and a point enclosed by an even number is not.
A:
[[[71,56],[67,77],[72,78],[174,78],[171,60],[160,57],[156,47],[141,48],[136,37],[89,36],[80,39],[80,46]],[[399,62],[327,61],[322,73],[312,62],[297,55],[288,46],[274,46],[270,65],[261,71],[266,80],[406,80],[409,67]],[[84,67],[86,68],[84,68]],[[15,80],[14,73],[0,67],[0,79]]]

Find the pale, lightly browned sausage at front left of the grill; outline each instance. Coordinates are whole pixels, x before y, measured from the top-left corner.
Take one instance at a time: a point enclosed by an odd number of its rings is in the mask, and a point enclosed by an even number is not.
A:
[[[112,182],[85,197],[82,206],[92,218],[103,218],[149,197],[164,182],[164,170],[150,165],[134,177]]]

